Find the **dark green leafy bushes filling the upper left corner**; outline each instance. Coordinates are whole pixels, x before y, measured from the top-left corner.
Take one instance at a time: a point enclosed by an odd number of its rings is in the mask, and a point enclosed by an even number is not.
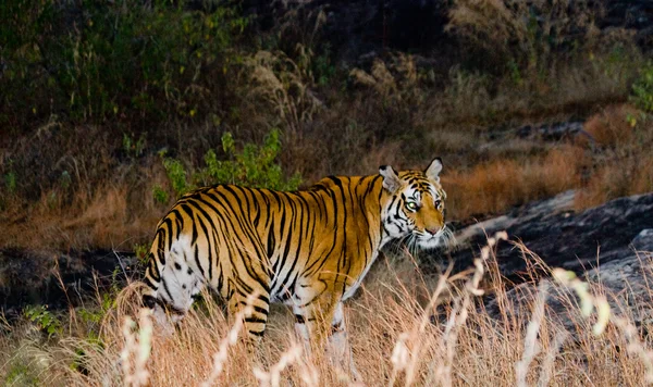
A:
[[[0,2],[0,123],[51,110],[96,122],[197,114],[205,75],[238,61],[248,18],[235,2]]]

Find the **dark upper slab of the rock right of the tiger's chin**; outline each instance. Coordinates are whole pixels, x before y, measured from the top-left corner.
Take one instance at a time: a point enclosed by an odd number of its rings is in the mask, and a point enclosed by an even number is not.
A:
[[[574,191],[567,191],[466,227],[457,233],[459,249],[451,257],[456,267],[470,266],[486,242],[485,235],[500,230],[521,241],[549,266],[577,274],[633,257],[632,245],[640,251],[653,251],[653,194],[616,199],[580,213],[574,212],[572,204]],[[508,242],[498,244],[496,258],[502,274],[519,283],[528,258]]]

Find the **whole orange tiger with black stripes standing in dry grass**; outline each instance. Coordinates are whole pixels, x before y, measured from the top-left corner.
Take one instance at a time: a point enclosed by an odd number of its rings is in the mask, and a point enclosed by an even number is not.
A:
[[[270,303],[284,303],[304,342],[326,339],[333,359],[349,350],[355,370],[343,301],[390,240],[420,249],[443,242],[442,167],[436,158],[424,171],[382,165],[379,174],[329,176],[297,191],[217,185],[189,192],[157,226],[143,301],[161,324],[176,323],[209,287],[229,314],[249,311],[244,326],[254,341]]]

